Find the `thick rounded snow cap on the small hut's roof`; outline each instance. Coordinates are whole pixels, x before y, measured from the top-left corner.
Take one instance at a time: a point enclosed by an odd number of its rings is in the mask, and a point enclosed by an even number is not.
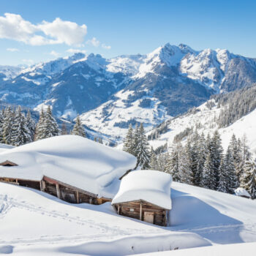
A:
[[[135,170],[124,176],[112,204],[145,200],[155,206],[170,210],[170,185],[172,177],[158,170]]]

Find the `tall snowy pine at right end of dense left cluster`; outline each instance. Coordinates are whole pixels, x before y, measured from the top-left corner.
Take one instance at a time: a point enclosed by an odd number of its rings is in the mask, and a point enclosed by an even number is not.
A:
[[[53,117],[53,114],[50,109],[50,105],[45,112],[44,124],[42,129],[42,138],[50,138],[59,135],[58,124]]]

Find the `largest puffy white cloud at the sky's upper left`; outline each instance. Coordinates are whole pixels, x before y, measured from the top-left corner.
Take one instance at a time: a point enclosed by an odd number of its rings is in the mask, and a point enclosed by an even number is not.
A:
[[[0,38],[13,39],[28,45],[80,45],[87,34],[85,24],[56,18],[53,22],[43,20],[37,25],[20,15],[5,13],[0,16]]]

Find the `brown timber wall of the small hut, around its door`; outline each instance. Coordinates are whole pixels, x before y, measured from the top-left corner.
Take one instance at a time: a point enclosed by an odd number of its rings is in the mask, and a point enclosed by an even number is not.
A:
[[[141,212],[140,212],[141,204]],[[167,210],[154,206],[151,203],[145,201],[132,201],[128,203],[119,203],[114,205],[118,214],[131,217],[134,219],[145,220],[145,212],[154,214],[154,224],[159,226],[167,225]],[[119,210],[118,210],[119,206]]]

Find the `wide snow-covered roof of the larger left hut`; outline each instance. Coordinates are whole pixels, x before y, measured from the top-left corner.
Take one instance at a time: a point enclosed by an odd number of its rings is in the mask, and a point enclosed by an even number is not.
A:
[[[124,151],[75,135],[38,140],[0,153],[0,177],[34,181],[43,176],[56,179],[99,197],[113,197],[120,178],[136,165],[136,158]]]

